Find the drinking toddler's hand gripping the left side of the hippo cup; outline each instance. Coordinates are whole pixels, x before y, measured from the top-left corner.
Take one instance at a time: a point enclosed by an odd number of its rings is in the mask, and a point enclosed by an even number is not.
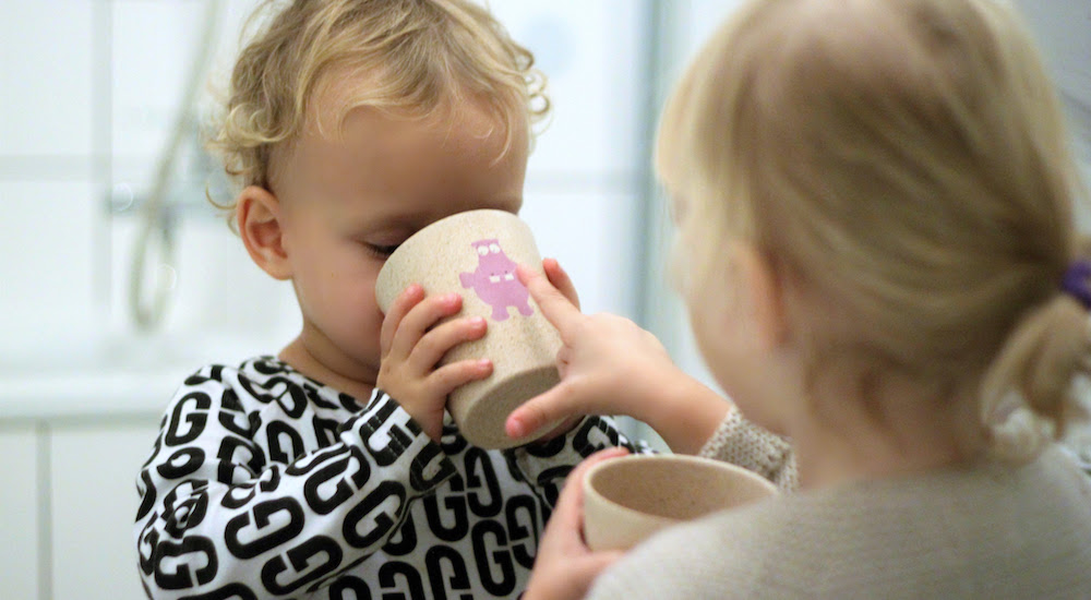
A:
[[[380,337],[382,365],[375,382],[417,421],[432,440],[443,431],[447,395],[459,385],[488,377],[492,361],[463,360],[436,369],[443,355],[464,341],[480,339],[484,319],[442,319],[457,314],[463,298],[457,293],[424,297],[413,284],[391,304]]]

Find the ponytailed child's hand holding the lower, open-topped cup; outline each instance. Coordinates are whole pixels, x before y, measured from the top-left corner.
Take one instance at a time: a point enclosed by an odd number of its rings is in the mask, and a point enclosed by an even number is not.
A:
[[[584,543],[584,477],[595,464],[625,454],[625,448],[597,452],[568,473],[546,524],[524,600],[578,600],[622,556],[619,551],[591,552]]]

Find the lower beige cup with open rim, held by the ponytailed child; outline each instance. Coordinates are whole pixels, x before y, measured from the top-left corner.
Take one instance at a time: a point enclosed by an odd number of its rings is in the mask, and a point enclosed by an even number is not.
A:
[[[584,479],[584,539],[591,550],[628,550],[671,525],[775,494],[767,479],[711,458],[613,458]]]

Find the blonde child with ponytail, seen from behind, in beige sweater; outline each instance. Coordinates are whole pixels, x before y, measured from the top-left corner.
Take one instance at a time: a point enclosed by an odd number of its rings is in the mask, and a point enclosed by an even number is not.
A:
[[[526,600],[1091,598],[1091,482],[1056,444],[1091,364],[1067,146],[1005,2],[740,9],[666,108],[658,167],[698,345],[739,410],[791,440],[799,489],[594,553],[592,457]],[[600,321],[524,277],[567,379],[607,373],[580,352]],[[659,372],[596,410],[645,413],[683,381]],[[561,399],[580,411],[558,393],[509,424]]]

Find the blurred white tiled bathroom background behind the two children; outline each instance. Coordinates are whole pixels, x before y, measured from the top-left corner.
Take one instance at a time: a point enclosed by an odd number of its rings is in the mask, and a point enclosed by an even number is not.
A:
[[[549,76],[523,216],[587,312],[624,314],[710,382],[664,275],[662,100],[735,0],[492,0]],[[1091,171],[1091,1],[1017,2]],[[0,0],[0,596],[135,599],[134,480],[209,361],[297,333],[205,200],[195,123],[254,0]],[[646,434],[638,423],[630,423]]]

